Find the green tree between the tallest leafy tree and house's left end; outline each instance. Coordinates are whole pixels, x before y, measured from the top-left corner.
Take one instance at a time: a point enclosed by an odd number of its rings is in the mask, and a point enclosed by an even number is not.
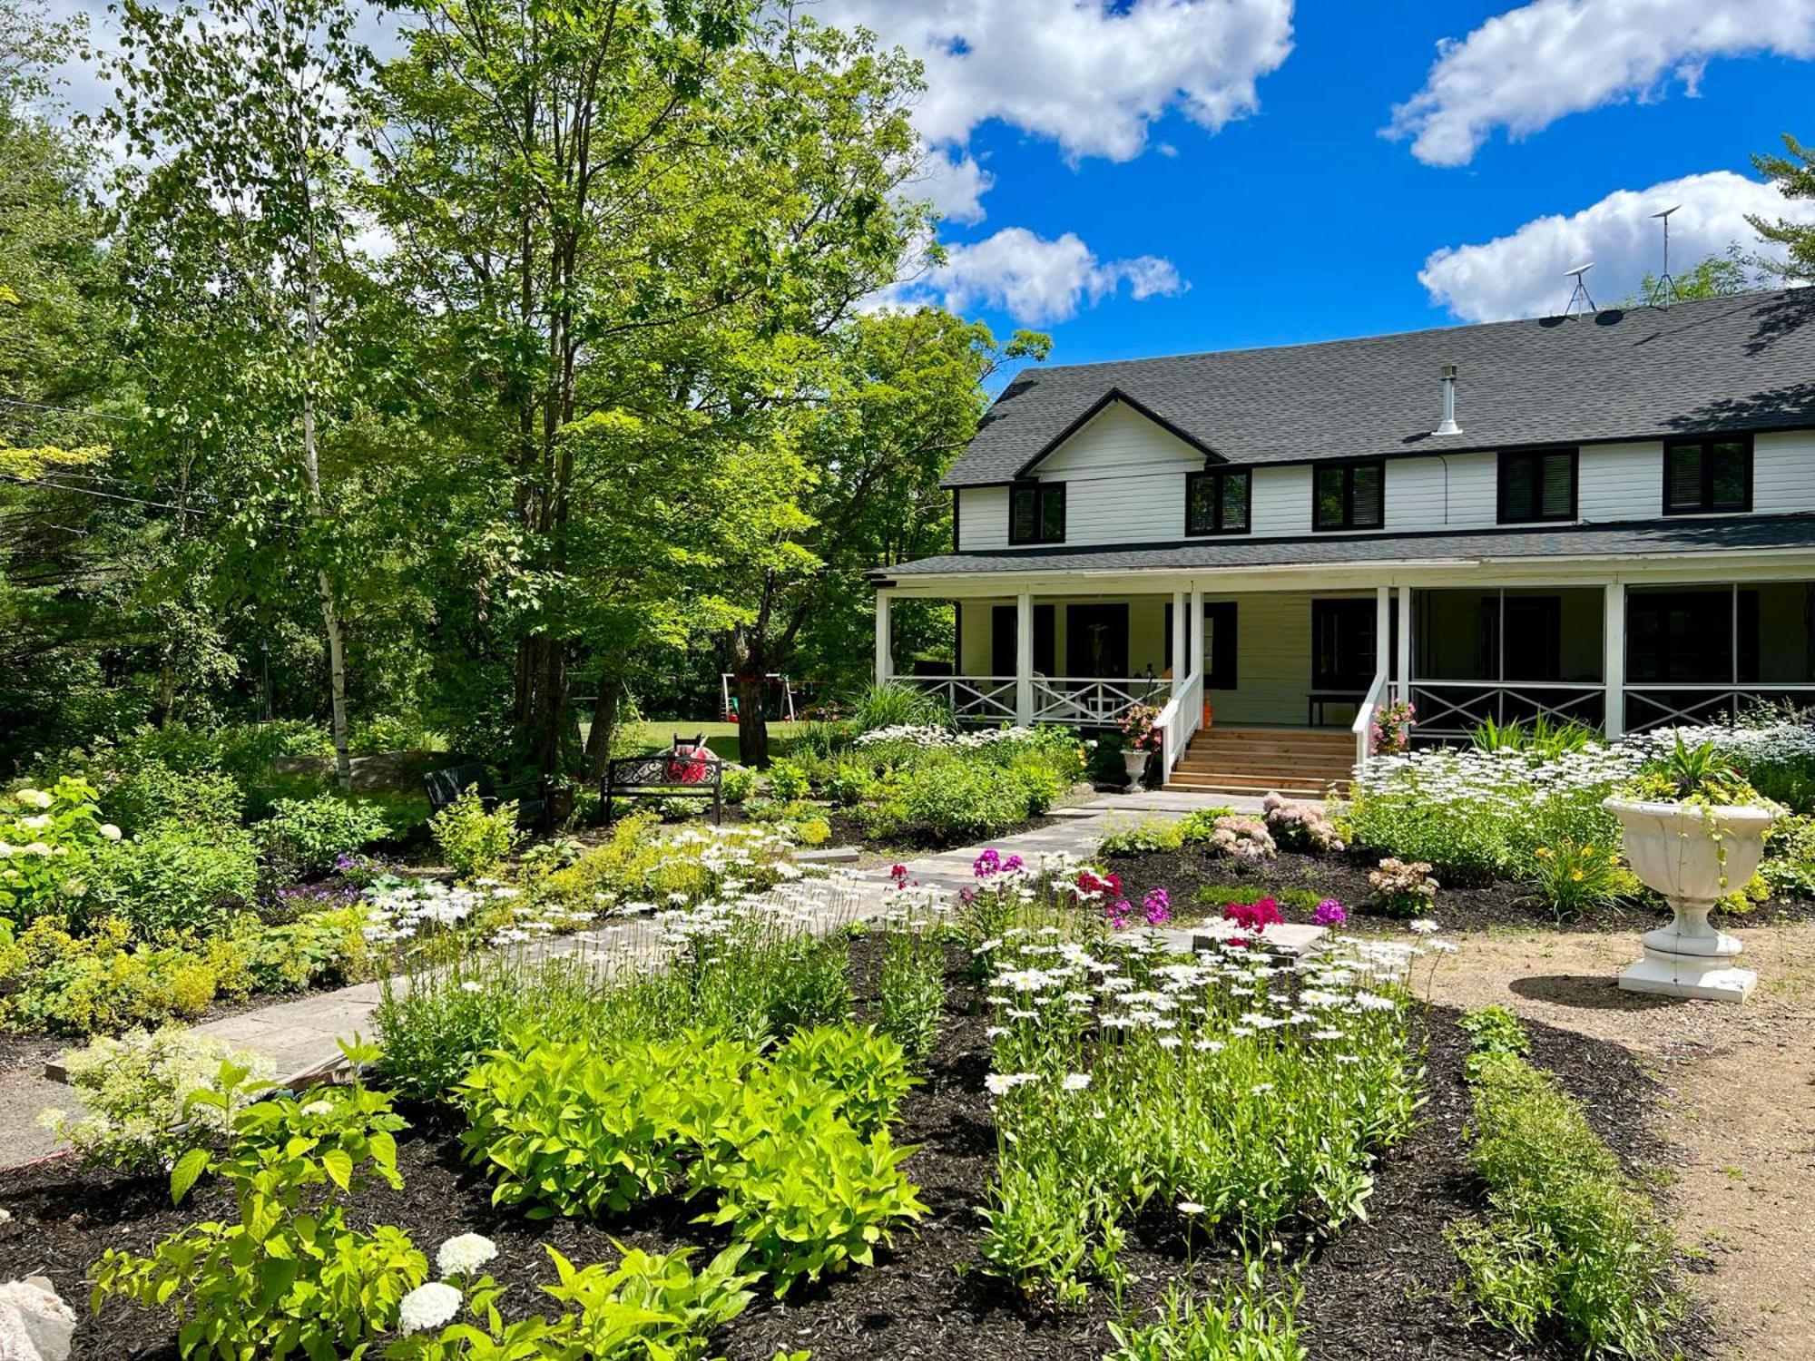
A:
[[[1049,348],[1027,330],[1000,345],[986,325],[931,307],[862,316],[831,338],[824,390],[793,414],[808,474],[800,515],[737,566],[751,595],[733,626],[739,675],[788,671],[800,657],[819,679],[868,673],[864,573],[949,546],[951,497],[938,479],[976,434],[984,385],[1004,363]],[[768,724],[751,680],[739,688],[737,722],[742,759],[760,764]]]

